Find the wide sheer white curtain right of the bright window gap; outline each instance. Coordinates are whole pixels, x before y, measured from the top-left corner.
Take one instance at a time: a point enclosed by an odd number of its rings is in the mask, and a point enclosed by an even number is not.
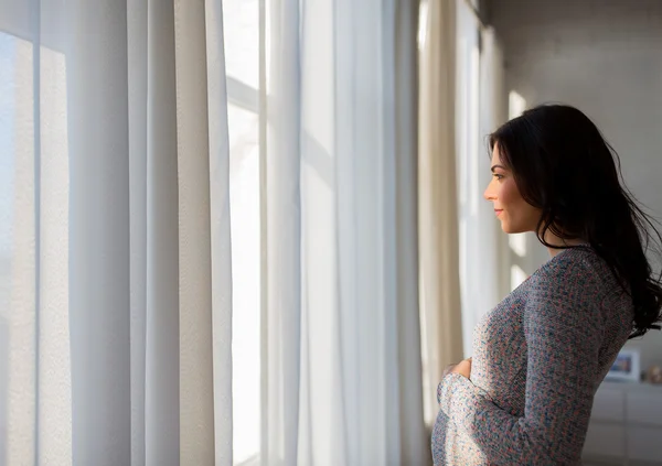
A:
[[[416,2],[269,10],[263,465],[427,464]]]

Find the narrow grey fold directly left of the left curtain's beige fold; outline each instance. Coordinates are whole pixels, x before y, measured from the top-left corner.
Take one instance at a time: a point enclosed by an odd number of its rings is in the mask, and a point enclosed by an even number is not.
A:
[[[147,332],[145,457],[180,448],[180,293],[174,4],[147,4]]]

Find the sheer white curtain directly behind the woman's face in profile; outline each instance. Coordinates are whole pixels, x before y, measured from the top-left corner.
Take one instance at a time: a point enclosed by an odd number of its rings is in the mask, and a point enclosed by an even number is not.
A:
[[[490,182],[488,134],[506,119],[504,64],[493,29],[458,0],[458,166],[465,356],[479,319],[510,292],[508,239],[483,198]]]

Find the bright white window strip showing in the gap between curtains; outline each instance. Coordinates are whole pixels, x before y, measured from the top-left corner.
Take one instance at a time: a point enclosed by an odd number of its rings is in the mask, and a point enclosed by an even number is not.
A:
[[[233,460],[260,454],[259,2],[224,0],[232,213]]]

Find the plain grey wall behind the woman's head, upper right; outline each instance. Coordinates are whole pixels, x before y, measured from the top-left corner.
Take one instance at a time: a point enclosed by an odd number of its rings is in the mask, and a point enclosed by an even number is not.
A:
[[[492,0],[506,84],[527,101],[585,111],[620,154],[627,185],[662,219],[662,1]],[[536,248],[532,260],[547,252]],[[662,365],[662,334],[629,344]]]

